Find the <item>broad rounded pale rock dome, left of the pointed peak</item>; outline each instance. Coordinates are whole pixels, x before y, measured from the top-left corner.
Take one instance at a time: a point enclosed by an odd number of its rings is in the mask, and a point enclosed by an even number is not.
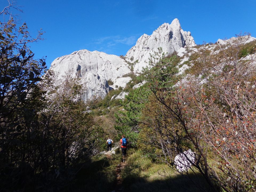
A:
[[[107,80],[115,81],[124,74],[130,73],[128,64],[116,55],[109,55],[99,51],[80,50],[55,59],[51,67],[57,79],[66,73],[72,77],[80,77],[81,83],[86,84],[86,101],[93,95],[105,97],[109,90]],[[122,81],[121,81],[122,82]],[[122,86],[124,82],[119,83]]]

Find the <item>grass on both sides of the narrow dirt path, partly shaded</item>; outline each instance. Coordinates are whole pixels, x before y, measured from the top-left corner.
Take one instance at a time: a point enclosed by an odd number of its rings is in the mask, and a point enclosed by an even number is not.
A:
[[[115,168],[121,160],[119,148],[111,159],[105,155],[93,157],[90,162],[83,164],[75,175],[74,182],[64,191],[113,191],[116,185]],[[201,175],[192,171],[189,177],[180,175],[164,163],[152,162],[134,148],[128,148],[126,162],[121,172],[122,186],[126,192],[199,191],[195,183],[203,191],[210,191]]]

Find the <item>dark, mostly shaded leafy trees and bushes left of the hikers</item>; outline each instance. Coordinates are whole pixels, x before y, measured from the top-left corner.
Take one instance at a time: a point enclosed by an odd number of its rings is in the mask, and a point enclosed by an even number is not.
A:
[[[33,39],[26,23],[17,27],[9,15],[14,5],[8,2],[0,14],[9,18],[0,22],[1,188],[62,190],[76,173],[72,165],[97,151],[101,130],[84,113],[79,79],[67,75],[54,82],[45,60],[34,59],[29,43],[41,39],[42,33]]]

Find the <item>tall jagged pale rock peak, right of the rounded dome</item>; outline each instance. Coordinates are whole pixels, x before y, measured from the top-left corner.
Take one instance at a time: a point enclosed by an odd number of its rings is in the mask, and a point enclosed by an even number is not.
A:
[[[190,32],[183,31],[178,19],[174,19],[171,24],[164,23],[152,35],[144,34],[127,53],[126,58],[129,62],[137,61],[134,71],[141,72],[142,67],[148,65],[150,54],[158,51],[162,47],[165,53],[171,54],[181,47],[195,46],[195,42]],[[131,61],[132,58],[132,61]]]

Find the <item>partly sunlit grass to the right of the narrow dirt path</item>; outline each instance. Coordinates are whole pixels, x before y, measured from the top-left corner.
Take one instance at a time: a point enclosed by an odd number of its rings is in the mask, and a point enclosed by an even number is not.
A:
[[[201,175],[191,173],[180,175],[163,163],[154,163],[135,151],[127,159],[127,165],[121,173],[126,191],[210,191]]]

